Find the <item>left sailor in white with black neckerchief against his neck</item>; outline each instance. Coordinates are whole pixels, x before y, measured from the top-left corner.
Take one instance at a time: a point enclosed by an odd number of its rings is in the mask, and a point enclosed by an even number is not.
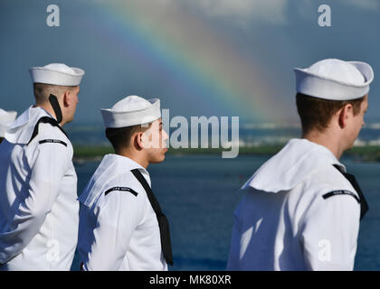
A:
[[[29,71],[35,105],[0,146],[0,269],[70,270],[79,202],[62,126],[74,117],[84,71],[62,63]]]

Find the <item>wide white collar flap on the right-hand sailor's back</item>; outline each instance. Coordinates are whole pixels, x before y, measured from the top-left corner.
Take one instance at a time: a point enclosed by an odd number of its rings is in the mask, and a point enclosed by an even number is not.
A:
[[[294,138],[261,165],[242,185],[242,190],[251,187],[259,191],[289,191],[309,175],[332,164],[341,166],[346,172],[346,167],[337,161],[327,147],[307,139]]]

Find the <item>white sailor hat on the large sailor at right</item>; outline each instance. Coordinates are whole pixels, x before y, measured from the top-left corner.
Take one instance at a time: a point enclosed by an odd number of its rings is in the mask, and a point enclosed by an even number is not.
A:
[[[327,59],[307,69],[294,69],[296,90],[314,98],[350,100],[364,97],[374,79],[365,62]]]

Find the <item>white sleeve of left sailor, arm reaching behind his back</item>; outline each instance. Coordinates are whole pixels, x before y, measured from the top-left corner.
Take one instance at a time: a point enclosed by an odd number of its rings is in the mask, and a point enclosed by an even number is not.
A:
[[[62,177],[71,162],[70,150],[63,144],[37,144],[30,163],[31,175],[26,196],[15,208],[14,219],[0,234],[0,263],[9,261],[40,231],[46,215],[57,199]]]

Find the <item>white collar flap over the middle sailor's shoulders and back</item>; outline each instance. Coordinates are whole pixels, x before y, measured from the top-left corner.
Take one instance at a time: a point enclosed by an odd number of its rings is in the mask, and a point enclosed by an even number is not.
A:
[[[134,169],[138,169],[144,175],[149,186],[151,186],[149,173],[139,163],[119,154],[104,155],[98,169],[91,177],[90,182],[87,184],[78,200],[86,207],[90,208],[94,201],[98,200],[100,194],[104,192],[104,185],[108,183],[112,177],[125,174]],[[137,179],[136,182],[138,182]],[[115,185],[124,186],[125,183],[118,183]]]

